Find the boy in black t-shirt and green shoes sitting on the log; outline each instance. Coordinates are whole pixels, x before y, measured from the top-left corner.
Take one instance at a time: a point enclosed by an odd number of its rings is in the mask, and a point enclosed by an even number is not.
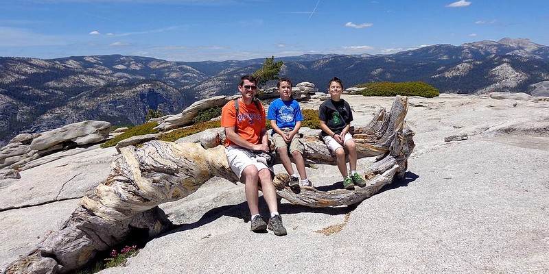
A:
[[[330,80],[328,92],[330,99],[322,103],[318,109],[318,119],[320,119],[320,129],[322,129],[321,136],[328,149],[336,154],[338,169],[343,176],[343,187],[349,190],[353,190],[355,185],[364,187],[366,182],[356,172],[356,145],[353,136],[349,134],[353,112],[351,112],[349,103],[341,99],[343,83],[338,77]],[[350,175],[347,172],[344,149],[349,151]]]

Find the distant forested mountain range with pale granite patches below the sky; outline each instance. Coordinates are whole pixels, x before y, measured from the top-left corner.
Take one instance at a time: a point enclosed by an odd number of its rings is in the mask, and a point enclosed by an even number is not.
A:
[[[270,56],[266,56],[270,57]],[[432,45],[390,55],[300,55],[281,76],[325,91],[338,76],[345,87],[367,82],[426,82],[441,92],[535,93],[549,86],[549,47],[504,38]],[[43,132],[84,120],[143,123],[149,108],[175,114],[199,99],[233,95],[238,79],[264,59],[169,62],[124,55],[50,60],[0,58],[0,145],[21,132]]]

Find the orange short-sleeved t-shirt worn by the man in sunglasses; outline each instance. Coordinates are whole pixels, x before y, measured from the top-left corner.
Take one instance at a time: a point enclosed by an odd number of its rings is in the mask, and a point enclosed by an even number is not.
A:
[[[244,140],[254,145],[260,144],[260,134],[261,130],[265,128],[266,116],[263,105],[261,103],[257,105],[259,105],[259,110],[255,103],[246,105],[241,100],[238,102],[239,113],[235,113],[235,101],[227,102],[221,110],[221,127],[235,127],[237,134]],[[225,146],[228,145],[236,144],[227,138]]]

